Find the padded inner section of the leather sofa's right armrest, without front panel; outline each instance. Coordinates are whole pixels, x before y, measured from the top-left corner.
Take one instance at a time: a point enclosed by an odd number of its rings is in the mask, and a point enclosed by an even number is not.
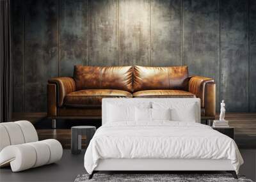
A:
[[[201,107],[205,107],[205,84],[214,82],[207,77],[194,76],[189,80],[188,91],[201,99]]]

